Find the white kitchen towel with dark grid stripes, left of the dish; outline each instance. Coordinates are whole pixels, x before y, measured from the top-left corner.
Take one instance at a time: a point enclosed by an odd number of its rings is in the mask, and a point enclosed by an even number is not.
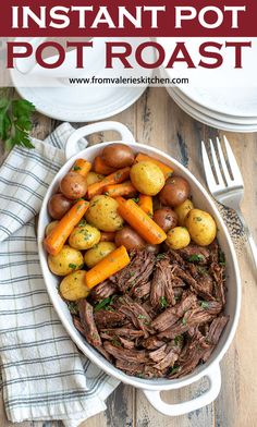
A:
[[[46,292],[35,216],[64,162],[73,132],[63,123],[35,149],[15,147],[0,169],[0,361],[11,422],[58,420],[77,426],[105,411],[118,386],[63,329]]]

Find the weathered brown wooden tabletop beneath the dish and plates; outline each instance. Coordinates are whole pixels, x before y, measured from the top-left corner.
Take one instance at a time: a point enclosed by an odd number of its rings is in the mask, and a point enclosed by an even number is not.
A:
[[[158,147],[186,166],[205,185],[200,158],[200,141],[221,136],[223,132],[208,127],[184,113],[168,96],[164,88],[150,88],[126,111],[111,118],[126,124],[136,139]],[[59,122],[35,115],[33,135],[45,138]],[[76,124],[82,125],[82,124]],[[236,156],[245,182],[242,209],[257,240],[257,133],[225,132]],[[115,135],[105,134],[106,141]],[[103,135],[91,137],[91,144],[103,141]],[[143,392],[132,387],[120,387],[108,399],[107,411],[82,424],[82,427],[255,427],[257,426],[257,283],[250,255],[240,224],[234,229],[238,254],[243,302],[240,325],[234,341],[221,363],[222,388],[212,404],[194,413],[171,418],[156,412]],[[179,391],[164,392],[167,402],[181,402],[198,395],[207,386],[204,379]],[[0,427],[11,427],[0,404]],[[57,427],[60,423],[22,423],[16,426]]]

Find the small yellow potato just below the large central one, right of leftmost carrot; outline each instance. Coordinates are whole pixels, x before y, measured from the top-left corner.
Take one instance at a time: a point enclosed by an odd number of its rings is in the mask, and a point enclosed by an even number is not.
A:
[[[69,237],[69,245],[74,249],[85,251],[96,245],[101,237],[101,233],[89,224],[78,224]]]

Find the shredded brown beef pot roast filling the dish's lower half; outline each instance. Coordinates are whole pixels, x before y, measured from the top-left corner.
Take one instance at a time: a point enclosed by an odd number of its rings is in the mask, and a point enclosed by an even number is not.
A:
[[[74,325],[109,362],[140,378],[179,378],[205,363],[229,320],[219,246],[189,245],[131,264],[78,302]]]

